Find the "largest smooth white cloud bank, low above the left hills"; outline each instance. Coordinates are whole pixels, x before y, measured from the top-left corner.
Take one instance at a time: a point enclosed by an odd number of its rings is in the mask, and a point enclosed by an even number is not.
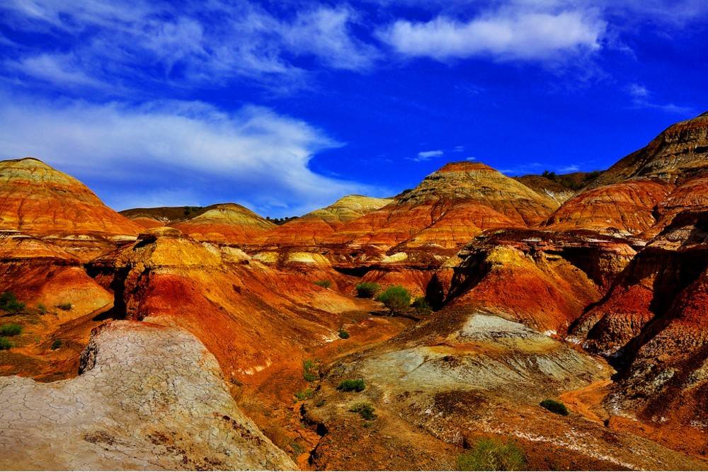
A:
[[[314,154],[342,144],[267,108],[225,113],[200,102],[133,107],[0,98],[0,159],[35,156],[86,181],[118,209],[235,200],[290,215],[378,190],[311,171]]]

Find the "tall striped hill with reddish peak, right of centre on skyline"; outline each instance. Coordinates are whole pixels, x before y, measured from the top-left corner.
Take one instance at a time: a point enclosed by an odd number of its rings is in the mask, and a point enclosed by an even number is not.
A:
[[[443,166],[395,200],[346,224],[331,241],[454,253],[485,229],[537,224],[557,207],[550,197],[467,161]]]

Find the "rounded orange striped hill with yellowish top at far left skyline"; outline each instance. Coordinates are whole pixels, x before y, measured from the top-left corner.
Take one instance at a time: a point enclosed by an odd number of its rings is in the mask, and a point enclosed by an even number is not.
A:
[[[88,260],[141,227],[73,177],[38,159],[0,161],[0,231],[47,238]]]

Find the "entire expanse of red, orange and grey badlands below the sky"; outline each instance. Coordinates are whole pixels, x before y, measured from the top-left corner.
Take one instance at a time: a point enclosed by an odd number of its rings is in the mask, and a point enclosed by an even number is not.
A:
[[[708,115],[574,178],[447,163],[276,224],[0,161],[0,468],[708,468]]]

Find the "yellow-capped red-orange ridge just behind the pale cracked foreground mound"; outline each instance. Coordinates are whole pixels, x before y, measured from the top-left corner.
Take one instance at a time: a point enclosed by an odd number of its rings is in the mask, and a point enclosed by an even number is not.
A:
[[[297,362],[305,347],[336,337],[336,313],[358,306],[313,280],[174,228],[147,230],[87,267],[114,292],[115,318],[185,328],[229,379],[246,383],[271,364]]]

